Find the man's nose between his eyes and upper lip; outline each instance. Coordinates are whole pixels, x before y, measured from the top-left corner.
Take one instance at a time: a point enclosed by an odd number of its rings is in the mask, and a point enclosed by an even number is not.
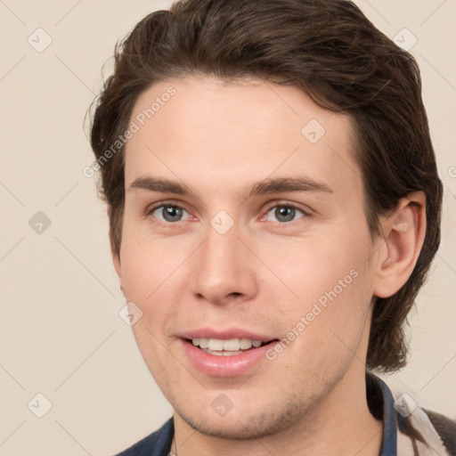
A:
[[[238,226],[221,234],[208,227],[208,238],[194,256],[192,293],[211,304],[224,305],[255,297],[257,260],[240,240]]]

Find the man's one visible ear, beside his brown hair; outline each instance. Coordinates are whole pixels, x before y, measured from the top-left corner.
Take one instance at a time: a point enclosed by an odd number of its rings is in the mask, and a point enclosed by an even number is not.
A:
[[[401,289],[415,267],[426,235],[426,196],[413,191],[400,199],[392,215],[382,222],[384,242],[379,248],[379,262],[373,295],[390,297]]]

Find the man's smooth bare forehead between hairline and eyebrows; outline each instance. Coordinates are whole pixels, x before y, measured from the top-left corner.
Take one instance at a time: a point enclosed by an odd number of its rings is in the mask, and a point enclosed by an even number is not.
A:
[[[228,191],[268,176],[305,174],[338,187],[359,178],[352,126],[293,86],[187,77],[152,85],[131,116],[126,186],[139,176],[178,177]]]

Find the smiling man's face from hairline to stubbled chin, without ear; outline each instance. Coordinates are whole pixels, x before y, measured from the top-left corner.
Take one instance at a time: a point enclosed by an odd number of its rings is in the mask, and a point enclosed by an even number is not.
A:
[[[188,77],[131,120],[114,262],[168,401],[236,438],[321,410],[364,375],[376,265],[349,119],[295,87]]]

